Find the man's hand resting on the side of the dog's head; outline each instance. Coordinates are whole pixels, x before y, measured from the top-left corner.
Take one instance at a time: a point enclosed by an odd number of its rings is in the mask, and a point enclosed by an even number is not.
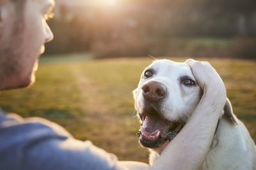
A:
[[[204,90],[204,97],[211,96],[213,101],[218,101],[224,106],[226,102],[225,85],[211,64],[193,59],[186,60],[186,63],[191,67],[198,85]]]

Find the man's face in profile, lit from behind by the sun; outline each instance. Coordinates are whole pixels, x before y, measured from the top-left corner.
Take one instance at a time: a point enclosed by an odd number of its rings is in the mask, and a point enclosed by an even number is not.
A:
[[[46,19],[54,1],[26,1],[20,13],[12,1],[0,6],[0,90],[33,83],[44,43],[53,38]]]

